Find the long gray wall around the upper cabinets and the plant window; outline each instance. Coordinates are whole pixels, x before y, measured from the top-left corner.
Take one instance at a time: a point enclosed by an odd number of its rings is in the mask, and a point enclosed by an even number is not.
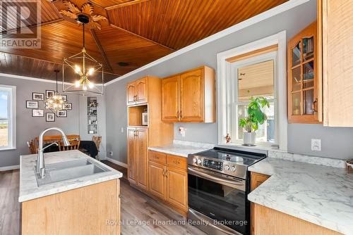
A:
[[[316,20],[316,0],[297,6],[285,13],[275,15],[226,37],[217,39],[164,61],[151,68],[107,86],[107,152],[113,151],[113,158],[126,163],[126,82],[145,75],[166,77],[177,72],[196,68],[200,65],[217,67],[216,54],[234,47],[253,42],[282,30],[287,30],[287,39]],[[186,136],[177,132],[179,126],[186,128]],[[120,132],[121,127],[124,133]],[[353,156],[353,129],[325,128],[323,125],[289,125],[288,151],[292,153],[311,152],[311,138],[322,139],[322,150],[317,154],[332,158]],[[217,123],[193,124],[177,123],[174,125],[174,139],[217,143]]]

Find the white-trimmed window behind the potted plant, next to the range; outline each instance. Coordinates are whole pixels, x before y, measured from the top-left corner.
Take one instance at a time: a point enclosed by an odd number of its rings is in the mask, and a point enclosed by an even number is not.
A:
[[[255,148],[287,151],[287,39],[282,31],[217,53],[218,144],[241,146],[251,97],[266,98]],[[248,128],[249,129],[249,128]],[[230,139],[229,139],[230,137]]]

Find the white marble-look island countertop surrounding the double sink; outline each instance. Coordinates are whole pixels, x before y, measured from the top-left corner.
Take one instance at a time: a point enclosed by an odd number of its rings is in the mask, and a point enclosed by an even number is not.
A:
[[[19,202],[29,201],[35,198],[40,198],[42,196],[52,195],[54,193],[60,193],[62,191],[68,191],[71,189],[77,189],[83,186],[88,186],[91,184],[97,184],[100,182],[105,182],[112,179],[118,179],[123,176],[123,174],[112,167],[104,165],[88,155],[81,153],[78,150],[73,151],[63,151],[63,152],[53,152],[44,153],[45,164],[51,163],[61,163],[70,160],[80,160],[80,159],[90,159],[93,162],[107,168],[108,172],[102,172],[98,174],[92,174],[85,177],[80,177],[76,179],[68,179],[61,182],[56,182],[52,184],[45,184],[42,186],[37,185],[37,180],[35,179],[35,160],[37,160],[37,154],[32,155],[21,155],[20,157],[20,196],[18,197]]]

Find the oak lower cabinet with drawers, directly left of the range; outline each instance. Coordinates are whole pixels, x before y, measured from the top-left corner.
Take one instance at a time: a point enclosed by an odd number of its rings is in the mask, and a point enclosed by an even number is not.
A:
[[[188,172],[186,158],[149,151],[148,192],[186,215]]]

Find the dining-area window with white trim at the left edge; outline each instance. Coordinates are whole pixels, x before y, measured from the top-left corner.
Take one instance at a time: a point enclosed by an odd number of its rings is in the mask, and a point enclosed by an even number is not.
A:
[[[16,87],[0,84],[0,150],[16,148]]]

